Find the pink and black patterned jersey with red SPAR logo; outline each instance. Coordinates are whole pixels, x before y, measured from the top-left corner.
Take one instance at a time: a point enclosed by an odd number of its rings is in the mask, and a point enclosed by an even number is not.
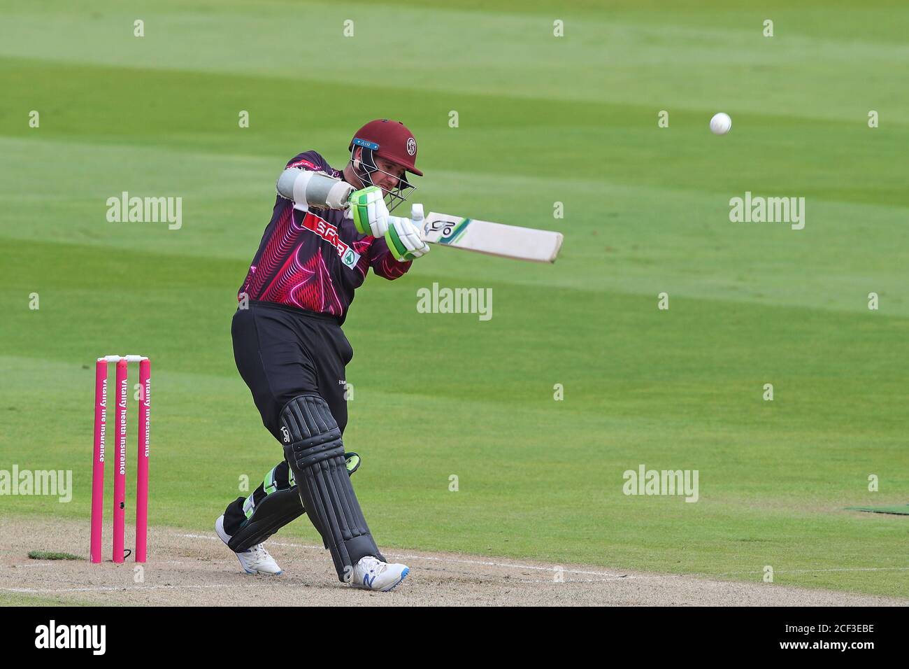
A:
[[[343,178],[315,151],[299,154],[287,167]],[[385,239],[357,232],[344,212],[300,211],[277,196],[272,220],[237,298],[245,294],[251,300],[330,314],[344,322],[354,290],[363,284],[369,268],[385,279],[397,279],[411,264],[395,260]]]

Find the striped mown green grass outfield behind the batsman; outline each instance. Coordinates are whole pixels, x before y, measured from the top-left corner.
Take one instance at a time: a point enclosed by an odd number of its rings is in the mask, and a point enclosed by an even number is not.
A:
[[[357,293],[345,442],[382,545],[909,596],[907,519],[843,511],[909,502],[904,3],[143,5],[0,3],[0,470],[75,481],[0,515],[85,518],[87,550],[92,361],[142,352],[151,522],[211,530],[281,457],[229,335],[275,177],[393,117],[427,210],[565,240],[553,267],[435,248]],[[183,227],[108,223],[124,190],[184,198]],[[731,223],[745,191],[806,198],[804,230]],[[493,289],[493,318],[418,314],[434,281]],[[698,470],[700,500],[625,496],[642,463]]]

